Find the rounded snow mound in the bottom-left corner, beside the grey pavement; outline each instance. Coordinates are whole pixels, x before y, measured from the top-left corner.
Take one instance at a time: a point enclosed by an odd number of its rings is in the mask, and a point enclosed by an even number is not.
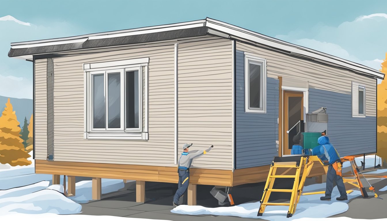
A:
[[[74,214],[82,209],[80,204],[67,199],[55,190],[40,190],[31,194],[0,199],[0,214],[7,213],[55,213]],[[5,219],[7,220],[7,219]]]

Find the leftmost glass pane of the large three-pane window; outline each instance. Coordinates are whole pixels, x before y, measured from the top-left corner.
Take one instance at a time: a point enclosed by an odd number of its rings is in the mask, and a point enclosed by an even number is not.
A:
[[[104,74],[92,75],[93,128],[105,128]]]

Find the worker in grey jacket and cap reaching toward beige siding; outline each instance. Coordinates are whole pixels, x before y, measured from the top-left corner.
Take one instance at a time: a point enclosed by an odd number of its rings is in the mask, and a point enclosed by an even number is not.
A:
[[[190,166],[192,164],[192,160],[194,158],[198,158],[203,154],[211,151],[213,145],[204,150],[204,151],[189,151],[188,148],[192,146],[192,144],[184,144],[183,145],[183,153],[180,156],[179,164],[178,164],[178,174],[179,174],[179,183],[178,189],[176,191],[175,196],[173,197],[173,206],[178,206],[180,197],[187,191],[189,178],[190,178]]]

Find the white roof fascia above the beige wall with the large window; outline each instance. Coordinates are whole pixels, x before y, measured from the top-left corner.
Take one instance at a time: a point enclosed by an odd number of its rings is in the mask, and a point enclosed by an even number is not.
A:
[[[110,32],[103,32],[103,33],[95,33],[95,34],[85,34],[85,35],[80,35],[80,36],[73,36],[73,37],[66,37],[66,38],[53,38],[53,39],[44,39],[44,40],[38,40],[38,41],[24,41],[24,42],[15,42],[11,43],[11,46],[20,46],[19,48],[27,48],[27,45],[31,44],[40,44],[40,43],[48,43],[48,45],[60,45],[60,44],[67,44],[67,43],[61,43],[63,41],[69,41],[69,40],[75,40],[75,39],[83,39],[83,38],[89,38],[89,37],[94,37],[94,36],[106,36],[106,35],[113,35],[113,34],[127,34],[123,36],[128,36],[128,35],[135,35],[139,34],[139,31],[144,31],[148,30],[149,32],[147,33],[155,33],[155,32],[161,32],[161,31],[170,31],[170,30],[177,30],[177,29],[185,29],[185,28],[190,28],[192,26],[190,25],[197,25],[196,27],[203,27],[205,23],[205,20],[198,20],[198,21],[190,21],[190,22],[182,22],[182,23],[175,23],[175,24],[166,24],[166,25],[160,25],[160,26],[150,26],[150,27],[141,27],[141,28],[135,28],[135,29],[126,29],[126,30],[121,30],[121,31],[110,31]],[[188,26],[188,27],[187,27]],[[171,28],[171,29],[169,29]],[[163,29],[163,30],[160,30]],[[132,33],[132,34],[129,34]],[[114,36],[117,37],[117,36]],[[113,37],[111,37],[113,38]],[[98,39],[98,38],[94,38]],[[55,43],[55,42],[60,42],[60,43]],[[22,47],[24,45],[24,47]],[[40,45],[35,45],[35,46],[40,46]],[[34,46],[34,47],[35,47]]]

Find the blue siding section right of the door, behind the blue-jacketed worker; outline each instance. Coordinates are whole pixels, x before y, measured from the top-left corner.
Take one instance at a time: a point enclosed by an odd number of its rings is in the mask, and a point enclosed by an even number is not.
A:
[[[330,142],[340,156],[376,152],[376,117],[352,117],[351,95],[309,89],[309,111],[327,107]]]

